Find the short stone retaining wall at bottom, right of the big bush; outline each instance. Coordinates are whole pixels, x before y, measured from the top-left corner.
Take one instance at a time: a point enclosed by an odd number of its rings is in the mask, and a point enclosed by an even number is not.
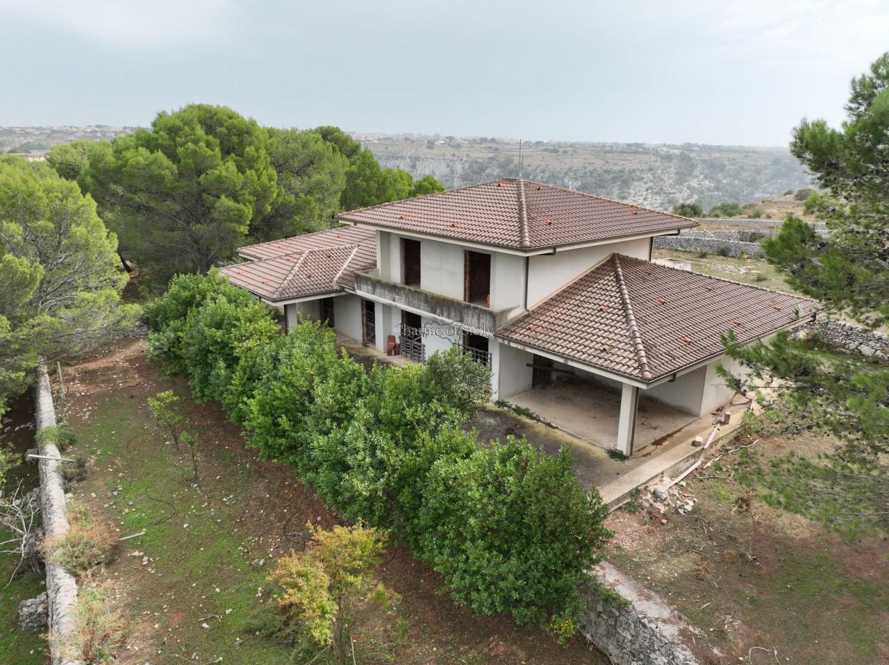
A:
[[[581,633],[614,665],[698,665],[691,647],[700,633],[684,617],[613,565],[600,563],[595,574],[623,600],[590,591]]]

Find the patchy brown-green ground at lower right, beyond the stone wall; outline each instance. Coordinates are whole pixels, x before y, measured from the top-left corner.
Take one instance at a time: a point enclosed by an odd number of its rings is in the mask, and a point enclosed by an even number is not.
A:
[[[762,438],[750,450],[767,460],[824,445]],[[687,478],[696,504],[686,515],[633,505],[613,513],[608,559],[685,613],[725,663],[775,662],[752,647],[777,650],[782,663],[889,662],[889,539],[847,544],[771,509],[731,479],[736,463],[728,454]]]

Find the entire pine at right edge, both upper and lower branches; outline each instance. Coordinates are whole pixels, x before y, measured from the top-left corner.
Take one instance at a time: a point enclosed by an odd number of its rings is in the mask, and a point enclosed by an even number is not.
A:
[[[789,217],[766,241],[770,261],[797,290],[865,324],[889,322],[889,53],[852,82],[847,120],[833,129],[803,120],[790,149],[828,194],[811,209],[831,233]],[[808,203],[807,199],[807,203]],[[885,363],[810,349],[779,334],[729,353],[755,380],[770,426],[792,436],[811,430],[837,441],[823,455],[793,455],[751,475],[768,501],[860,533],[889,529],[889,370]],[[816,340],[817,344],[817,340]],[[741,389],[747,387],[740,387]]]

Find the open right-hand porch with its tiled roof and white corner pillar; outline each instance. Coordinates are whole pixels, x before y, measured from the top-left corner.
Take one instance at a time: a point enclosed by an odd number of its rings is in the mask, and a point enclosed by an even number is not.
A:
[[[754,341],[818,308],[612,254],[496,332],[498,397],[631,455],[733,397],[717,373],[725,332]]]

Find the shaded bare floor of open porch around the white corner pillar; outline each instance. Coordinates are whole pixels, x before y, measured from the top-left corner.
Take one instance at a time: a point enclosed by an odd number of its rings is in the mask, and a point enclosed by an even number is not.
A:
[[[529,409],[583,441],[606,449],[616,446],[621,393],[605,384],[567,377],[525,390],[507,401]],[[634,454],[696,420],[697,416],[645,397],[644,391],[640,391]]]

